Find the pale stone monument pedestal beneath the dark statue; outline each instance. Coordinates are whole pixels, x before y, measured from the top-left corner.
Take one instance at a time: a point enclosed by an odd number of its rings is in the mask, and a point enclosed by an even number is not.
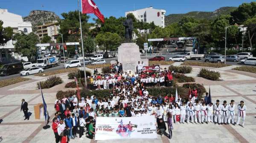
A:
[[[122,63],[123,72],[136,72],[138,62],[148,66],[148,59],[140,59],[140,49],[136,43],[122,43],[118,47],[118,62]]]

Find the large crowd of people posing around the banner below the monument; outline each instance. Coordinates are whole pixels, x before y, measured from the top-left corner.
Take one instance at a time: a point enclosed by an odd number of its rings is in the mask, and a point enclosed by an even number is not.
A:
[[[143,82],[145,77],[167,77],[172,75],[172,71],[163,70],[159,73],[141,72],[140,74],[130,73],[111,73],[104,78],[114,79],[115,82],[98,85],[98,89],[110,88],[110,95],[98,98],[97,95],[91,97],[82,97],[79,100],[76,95],[58,99],[55,101],[55,117],[53,118],[52,129],[55,134],[55,141],[58,143],[67,143],[68,140],[78,137],[83,140],[83,135],[93,139],[95,135],[95,121],[97,117],[140,117],[154,115],[157,121],[157,132],[172,138],[173,124],[178,123],[218,123],[234,125],[240,123],[244,126],[246,106],[241,101],[237,106],[238,118],[236,123],[235,113],[236,105],[231,100],[230,104],[219,100],[215,104],[209,103],[209,96],[198,99],[197,89],[192,90],[192,98],[178,98],[171,95],[151,96],[148,91],[148,83]],[[100,76],[100,77],[98,77]],[[102,79],[102,75],[95,75],[96,79]],[[105,87],[106,85],[106,87]],[[155,86],[155,84],[149,84]],[[160,84],[161,86],[161,84]],[[167,123],[167,127],[166,127]],[[169,130],[169,134],[166,133]]]

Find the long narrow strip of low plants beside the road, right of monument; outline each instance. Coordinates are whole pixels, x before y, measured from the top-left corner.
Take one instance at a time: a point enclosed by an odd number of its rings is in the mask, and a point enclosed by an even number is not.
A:
[[[202,66],[202,67],[217,67],[217,68],[230,66],[230,64],[210,63],[210,62],[191,62],[191,61],[183,62],[181,65],[195,65],[195,66]]]

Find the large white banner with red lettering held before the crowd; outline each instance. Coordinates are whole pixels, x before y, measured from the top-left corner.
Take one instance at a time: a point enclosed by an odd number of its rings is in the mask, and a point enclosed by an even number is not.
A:
[[[153,115],[141,117],[97,117],[95,140],[157,138]]]

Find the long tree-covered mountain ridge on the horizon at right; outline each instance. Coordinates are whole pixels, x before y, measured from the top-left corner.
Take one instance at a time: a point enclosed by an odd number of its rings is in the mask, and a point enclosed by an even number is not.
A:
[[[169,14],[165,17],[165,25],[169,25],[173,22],[178,22],[182,17],[194,17],[195,19],[209,19],[214,20],[221,14],[230,14],[231,11],[235,10],[237,7],[221,7],[215,11],[191,11],[186,14]]]

